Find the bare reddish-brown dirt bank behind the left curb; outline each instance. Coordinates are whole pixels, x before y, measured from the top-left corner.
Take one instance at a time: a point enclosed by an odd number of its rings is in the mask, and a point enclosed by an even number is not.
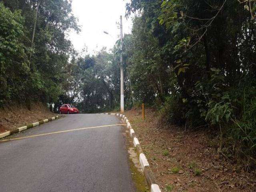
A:
[[[42,103],[32,104],[31,110],[22,104],[9,106],[0,109],[0,133],[53,116]]]

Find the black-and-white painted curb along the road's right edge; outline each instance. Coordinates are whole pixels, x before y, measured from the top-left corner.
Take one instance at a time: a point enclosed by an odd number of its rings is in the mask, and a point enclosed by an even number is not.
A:
[[[118,114],[118,113],[103,113],[103,114],[118,116],[122,118],[122,120],[124,120],[124,122],[126,123],[126,127],[129,129],[131,138],[133,139],[133,144],[134,144],[134,147],[136,148],[136,152],[140,160],[140,166],[144,172],[148,187],[150,188],[150,192],[161,192],[160,187],[158,186],[158,184],[156,184],[156,179],[154,177],[154,174],[149,166],[148,160],[143,153],[142,147],[140,146],[140,142],[136,137],[136,134],[132,129],[132,125],[130,124],[128,118],[125,115]]]

